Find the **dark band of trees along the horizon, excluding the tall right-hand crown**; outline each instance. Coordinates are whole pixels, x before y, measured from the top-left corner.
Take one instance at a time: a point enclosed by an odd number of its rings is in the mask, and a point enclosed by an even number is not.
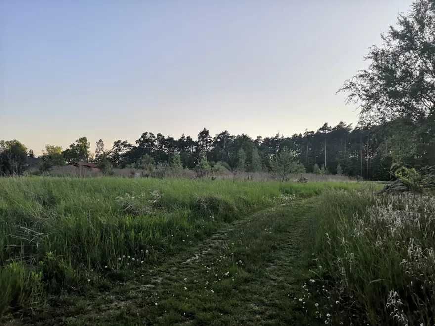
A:
[[[325,123],[317,131],[305,131],[290,137],[258,136],[255,139],[245,134],[232,135],[226,130],[212,137],[205,128],[199,132],[197,139],[184,134],[174,139],[161,133],[144,132],[134,144],[117,140],[109,149],[100,139],[95,153],[90,153],[87,138],[81,137],[65,150],[60,146],[47,145],[39,164],[41,170],[85,161],[93,162],[102,169],[146,169],[175,163],[189,169],[215,166],[231,171],[270,172],[274,170],[274,158],[286,148],[306,172],[390,180],[393,163],[413,167],[435,165],[434,126],[433,119],[427,119],[422,129],[421,125],[403,118],[382,125],[356,128],[345,122],[333,127]],[[17,141],[0,144],[3,174],[22,172],[25,146]],[[8,146],[10,150],[7,150]]]

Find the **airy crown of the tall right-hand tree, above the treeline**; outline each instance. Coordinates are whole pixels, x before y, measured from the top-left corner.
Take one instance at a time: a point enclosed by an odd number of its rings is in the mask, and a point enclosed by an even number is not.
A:
[[[382,35],[366,60],[370,66],[345,82],[340,91],[360,104],[364,121],[384,123],[407,118],[423,123],[435,113],[435,2],[416,1]]]

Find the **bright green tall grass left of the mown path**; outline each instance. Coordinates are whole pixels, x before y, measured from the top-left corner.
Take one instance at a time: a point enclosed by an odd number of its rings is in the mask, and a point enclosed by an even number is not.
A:
[[[0,178],[0,312],[182,250],[255,210],[356,183]],[[134,260],[132,258],[135,258]],[[127,258],[129,263],[127,264]],[[90,279],[89,279],[90,280]]]

